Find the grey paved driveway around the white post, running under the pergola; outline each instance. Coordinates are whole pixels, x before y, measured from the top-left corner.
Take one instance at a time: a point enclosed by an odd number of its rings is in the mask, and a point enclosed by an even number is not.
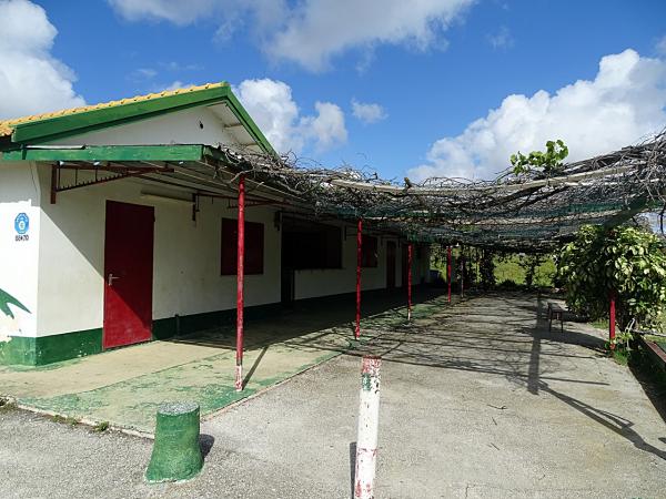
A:
[[[386,327],[377,497],[666,497],[666,425],[602,332],[547,333],[525,297],[425,304]],[[202,422],[206,464],[148,486],[150,441],[0,415],[0,497],[350,497],[360,358]]]

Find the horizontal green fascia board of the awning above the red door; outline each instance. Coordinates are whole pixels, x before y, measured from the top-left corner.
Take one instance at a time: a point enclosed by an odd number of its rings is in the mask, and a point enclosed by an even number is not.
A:
[[[204,145],[87,145],[71,149],[21,147],[0,152],[8,161],[200,161]]]

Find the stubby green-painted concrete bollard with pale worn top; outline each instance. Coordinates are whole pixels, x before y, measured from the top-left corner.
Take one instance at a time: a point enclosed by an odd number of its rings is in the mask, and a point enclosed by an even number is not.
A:
[[[202,467],[199,405],[162,404],[158,409],[155,442],[145,479],[151,482],[189,480]]]

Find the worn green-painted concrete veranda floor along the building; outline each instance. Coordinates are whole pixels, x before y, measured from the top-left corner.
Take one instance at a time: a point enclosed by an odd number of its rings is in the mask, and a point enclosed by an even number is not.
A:
[[[422,299],[433,292],[421,289]],[[364,338],[404,322],[404,292],[367,293]],[[426,304],[420,305],[427,307]],[[238,393],[235,327],[199,332],[40,368],[0,366],[0,396],[19,404],[88,421],[152,432],[161,403],[195,400],[213,413],[352,347],[354,303],[306,303],[279,317],[245,327],[245,389]]]

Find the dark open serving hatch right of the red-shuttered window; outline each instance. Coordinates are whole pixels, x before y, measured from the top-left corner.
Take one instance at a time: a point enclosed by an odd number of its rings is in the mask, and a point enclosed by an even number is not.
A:
[[[286,268],[341,268],[342,231],[315,222],[282,220],[282,265]]]

